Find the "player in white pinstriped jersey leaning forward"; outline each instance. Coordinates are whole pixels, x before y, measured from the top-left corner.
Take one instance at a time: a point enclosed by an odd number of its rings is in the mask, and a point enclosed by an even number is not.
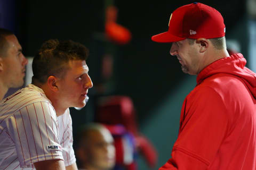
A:
[[[0,104],[0,169],[77,169],[69,107],[83,107],[92,81],[88,50],[48,40],[35,55],[32,83]]]

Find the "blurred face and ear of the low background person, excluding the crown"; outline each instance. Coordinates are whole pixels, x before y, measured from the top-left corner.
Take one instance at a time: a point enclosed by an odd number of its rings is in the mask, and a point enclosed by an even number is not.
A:
[[[107,170],[115,165],[114,139],[107,129],[90,130],[78,151],[78,158],[87,170]]]

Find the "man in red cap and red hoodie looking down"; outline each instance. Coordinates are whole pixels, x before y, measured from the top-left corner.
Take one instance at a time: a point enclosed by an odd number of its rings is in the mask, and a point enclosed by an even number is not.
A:
[[[256,74],[242,54],[229,56],[225,24],[214,8],[192,3],[152,37],[172,43],[182,71],[197,75],[186,97],[172,158],[163,169],[256,169]]]

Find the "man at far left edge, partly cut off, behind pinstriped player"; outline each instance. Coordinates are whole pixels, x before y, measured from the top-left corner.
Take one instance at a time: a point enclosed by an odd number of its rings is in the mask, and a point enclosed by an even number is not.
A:
[[[11,31],[0,28],[0,99],[9,88],[22,86],[27,63],[17,37]]]

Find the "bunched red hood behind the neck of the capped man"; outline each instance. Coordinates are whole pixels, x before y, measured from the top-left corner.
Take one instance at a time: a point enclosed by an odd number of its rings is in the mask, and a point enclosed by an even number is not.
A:
[[[236,75],[241,78],[251,94],[256,98],[256,74],[250,69],[245,67],[246,60],[242,54],[233,54],[229,57],[221,58],[205,67],[197,75],[197,85],[199,85],[204,79],[218,73],[226,73]]]

